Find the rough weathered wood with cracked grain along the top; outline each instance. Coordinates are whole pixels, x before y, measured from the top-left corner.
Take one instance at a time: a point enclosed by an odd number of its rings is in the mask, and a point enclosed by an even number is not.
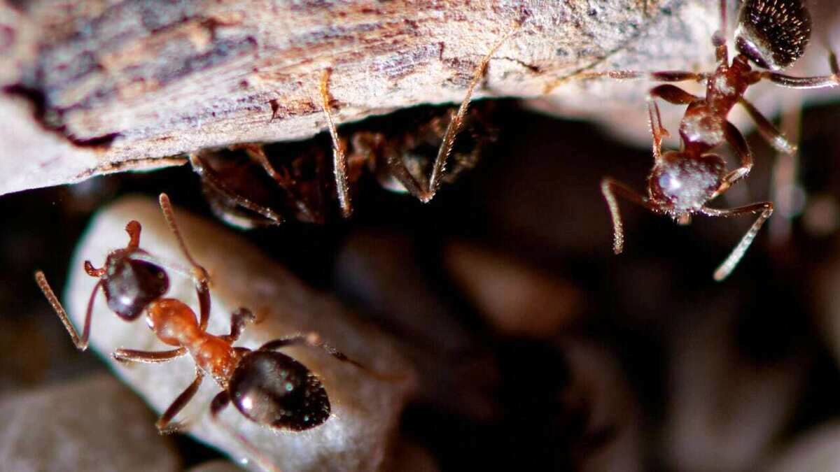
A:
[[[573,82],[549,96],[546,85],[589,69],[706,69],[716,8],[709,0],[0,3],[0,194],[174,165],[183,160],[170,156],[204,147],[307,138],[324,128],[317,93],[327,68],[339,123],[459,101],[476,61],[520,22],[477,96],[543,97],[538,108],[563,114],[638,112],[643,81]],[[816,24],[836,16],[815,14]]]

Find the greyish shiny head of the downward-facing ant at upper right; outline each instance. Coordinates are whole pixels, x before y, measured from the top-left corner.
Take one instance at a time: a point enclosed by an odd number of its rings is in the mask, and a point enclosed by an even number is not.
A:
[[[665,212],[696,212],[715,194],[725,170],[726,163],[719,155],[667,152],[650,171],[648,192]]]

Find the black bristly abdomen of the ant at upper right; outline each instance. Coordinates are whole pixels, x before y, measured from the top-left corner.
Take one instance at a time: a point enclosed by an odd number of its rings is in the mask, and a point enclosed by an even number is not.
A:
[[[735,47],[764,69],[779,71],[805,53],[811,15],[801,0],[748,0],[741,8]]]

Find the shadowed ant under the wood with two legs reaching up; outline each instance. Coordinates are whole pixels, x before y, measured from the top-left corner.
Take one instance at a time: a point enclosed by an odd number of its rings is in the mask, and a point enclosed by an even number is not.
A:
[[[350,186],[360,180],[365,167],[386,189],[408,192],[421,202],[430,202],[442,181],[451,181],[453,179],[448,177],[475,165],[480,150],[492,139],[481,139],[474,131],[471,133],[475,142],[473,149],[453,152],[455,139],[465,128],[465,123],[475,124],[479,131],[486,130],[481,113],[468,113],[470,100],[492,55],[517,29],[518,26],[505,34],[480,60],[457,111],[449,109],[445,116],[435,116],[419,123],[409,133],[357,131],[351,135],[349,146],[339,137],[333,120],[328,87],[332,71],[323,71],[318,91],[332,141],[334,195],[339,201],[343,218],[349,218],[353,213]],[[421,155],[417,149],[434,140],[441,141],[434,160],[429,162],[428,156]],[[299,221],[324,223],[328,213],[326,203],[333,198],[324,196],[325,192],[333,191],[328,187],[330,177],[325,172],[326,158],[323,150],[316,149],[316,146],[299,145],[302,146],[299,157],[287,161],[280,170],[271,164],[262,144],[239,144],[231,148],[232,151],[244,150],[248,158],[246,165],[232,162],[232,153],[218,149],[192,154],[190,162],[202,177],[202,188],[213,211],[227,223],[243,228],[283,223],[284,218],[276,207],[283,208]],[[455,171],[447,176],[450,155],[454,155]],[[271,201],[270,191],[255,186],[254,164],[280,187],[282,195],[274,198],[276,205],[263,203]],[[422,175],[424,170],[430,170],[428,177]]]

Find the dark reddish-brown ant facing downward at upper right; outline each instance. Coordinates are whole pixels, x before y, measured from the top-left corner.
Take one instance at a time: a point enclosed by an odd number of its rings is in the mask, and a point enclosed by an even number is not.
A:
[[[743,3],[735,30],[738,55],[729,63],[725,31],[727,29],[726,0],[720,0],[720,29],[711,36],[715,47],[717,69],[713,72],[606,71],[586,73],[585,76],[609,76],[633,79],[648,76],[654,81],[706,81],[706,97],[697,97],[674,85],[660,85],[648,92],[648,121],[653,134],[654,167],[648,175],[648,195],[643,197],[619,181],[606,177],[601,192],[612,216],[613,249],[622,252],[624,233],[616,196],[621,196],[649,211],[669,215],[676,223],[685,225],[691,216],[701,213],[710,217],[733,217],[759,213],[753,226],[732,249],[726,260],[715,270],[714,278],[722,281],[738,265],[743,254],[755,239],[764,221],[773,212],[772,202],[759,202],[736,208],[712,208],[706,203],[726,192],[742,180],[753,167],[753,155],[738,128],[727,121],[727,115],[740,104],[758,125],[759,133],[775,149],[791,154],[795,145],[774,128],[773,124],[743,97],[747,88],[759,81],[769,80],[781,87],[820,88],[840,85],[840,66],[837,56],[829,51],[830,76],[795,77],[777,71],[791,66],[805,52],[811,36],[811,17],[801,0],[747,0]],[[753,71],[749,64],[765,71]],[[669,132],[662,126],[657,98],[675,105],[688,105],[680,122],[679,151],[662,151],[662,139]],[[729,172],[719,155],[709,151],[727,143],[738,155],[740,166]]]

